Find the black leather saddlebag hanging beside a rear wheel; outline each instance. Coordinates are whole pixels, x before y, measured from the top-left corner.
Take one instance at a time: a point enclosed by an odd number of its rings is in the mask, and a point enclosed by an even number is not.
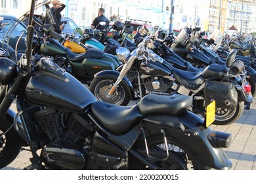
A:
[[[207,81],[204,88],[205,107],[215,100],[216,108],[234,108],[238,105],[238,92],[230,82]]]

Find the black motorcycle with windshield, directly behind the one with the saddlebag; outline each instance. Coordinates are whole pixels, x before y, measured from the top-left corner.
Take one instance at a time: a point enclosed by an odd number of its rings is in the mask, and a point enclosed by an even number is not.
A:
[[[221,59],[215,52],[203,45],[205,42],[208,45],[216,44],[215,40],[200,39],[199,31],[200,27],[196,27],[194,31],[191,28],[182,29],[175,43],[171,44],[173,51],[181,56],[181,58],[192,63],[194,67],[205,68],[207,65],[212,64],[225,65],[225,59]],[[217,35],[220,36],[221,33],[219,32]],[[256,95],[256,71],[244,59],[239,60],[243,61],[245,65],[245,75],[247,82],[251,85],[251,93],[254,97]]]

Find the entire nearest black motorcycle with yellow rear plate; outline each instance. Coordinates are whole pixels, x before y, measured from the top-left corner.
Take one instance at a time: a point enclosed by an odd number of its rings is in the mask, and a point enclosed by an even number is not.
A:
[[[33,62],[34,7],[32,0],[26,55],[18,63],[0,58],[0,168],[18,156],[22,146],[28,146],[33,156],[25,169],[232,166],[223,150],[231,134],[213,131],[207,121],[189,112],[191,97],[152,94],[137,105],[119,107],[96,101],[52,58]],[[46,27],[44,32],[59,36]],[[14,99],[17,113],[10,109]],[[214,103],[209,111],[211,107]]]

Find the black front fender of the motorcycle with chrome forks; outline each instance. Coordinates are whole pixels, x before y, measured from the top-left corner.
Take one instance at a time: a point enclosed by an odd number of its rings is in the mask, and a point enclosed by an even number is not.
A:
[[[104,78],[106,76],[118,78],[119,74],[120,73],[117,71],[104,70],[96,73],[95,78]],[[123,84],[125,84],[125,86],[127,86],[127,88],[129,89],[130,96],[132,98],[135,97],[135,92],[133,92],[133,84],[131,84],[131,81],[127,77],[124,77],[123,80],[121,80],[121,82],[123,82]]]

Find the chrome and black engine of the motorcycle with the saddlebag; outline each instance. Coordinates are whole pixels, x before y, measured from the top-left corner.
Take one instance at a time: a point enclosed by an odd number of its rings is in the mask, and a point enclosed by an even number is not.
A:
[[[171,93],[173,81],[162,76],[142,76],[142,84],[148,92]]]

